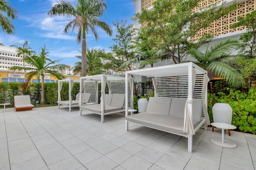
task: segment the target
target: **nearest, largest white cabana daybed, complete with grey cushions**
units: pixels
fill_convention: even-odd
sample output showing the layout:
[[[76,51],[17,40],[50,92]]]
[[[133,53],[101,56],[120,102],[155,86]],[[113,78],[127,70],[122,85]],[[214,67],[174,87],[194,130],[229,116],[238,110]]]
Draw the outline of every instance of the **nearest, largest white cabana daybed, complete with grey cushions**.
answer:
[[[192,136],[202,125],[210,125],[207,71],[191,62],[126,71],[126,89],[130,74],[152,77],[155,97],[149,99],[146,112],[128,116],[126,107],[126,130],[130,121],[180,135],[188,138],[192,152]]]

